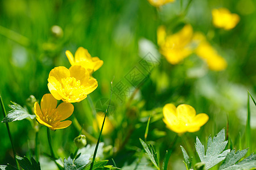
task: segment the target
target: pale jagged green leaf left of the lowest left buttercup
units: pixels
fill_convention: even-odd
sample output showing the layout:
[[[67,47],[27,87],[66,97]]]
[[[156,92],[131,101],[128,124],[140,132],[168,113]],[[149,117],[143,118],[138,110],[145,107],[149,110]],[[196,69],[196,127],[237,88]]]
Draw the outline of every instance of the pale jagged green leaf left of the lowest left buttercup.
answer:
[[[2,123],[19,121],[25,118],[30,118],[31,120],[33,120],[36,117],[35,115],[28,113],[27,108],[23,108],[19,104],[16,104],[15,102],[12,102],[12,101],[11,103],[13,103],[13,105],[9,105],[9,107],[12,110],[3,119]]]

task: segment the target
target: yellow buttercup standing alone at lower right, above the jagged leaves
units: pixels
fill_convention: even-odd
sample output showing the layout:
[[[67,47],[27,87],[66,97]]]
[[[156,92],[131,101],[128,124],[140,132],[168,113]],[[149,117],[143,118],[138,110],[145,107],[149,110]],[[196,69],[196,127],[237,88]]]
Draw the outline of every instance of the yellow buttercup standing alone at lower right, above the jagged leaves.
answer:
[[[163,116],[167,128],[179,134],[198,131],[209,119],[205,113],[196,115],[195,109],[187,104],[178,105],[177,108],[174,104],[166,104]]]

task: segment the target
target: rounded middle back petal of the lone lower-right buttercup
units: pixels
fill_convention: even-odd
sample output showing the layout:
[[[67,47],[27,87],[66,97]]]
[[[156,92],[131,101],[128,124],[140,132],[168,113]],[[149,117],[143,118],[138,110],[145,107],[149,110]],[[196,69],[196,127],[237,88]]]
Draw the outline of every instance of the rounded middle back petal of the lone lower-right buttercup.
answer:
[[[190,118],[196,116],[196,111],[195,109],[188,104],[180,104],[177,107],[177,117],[180,118]]]

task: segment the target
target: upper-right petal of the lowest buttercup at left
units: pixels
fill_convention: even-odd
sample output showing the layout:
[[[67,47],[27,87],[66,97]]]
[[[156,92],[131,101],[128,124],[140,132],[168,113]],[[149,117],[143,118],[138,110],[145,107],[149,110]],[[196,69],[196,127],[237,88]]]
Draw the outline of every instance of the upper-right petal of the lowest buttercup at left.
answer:
[[[71,103],[61,103],[56,108],[56,112],[59,115],[56,121],[63,121],[66,118],[70,117],[74,111],[74,106]]]

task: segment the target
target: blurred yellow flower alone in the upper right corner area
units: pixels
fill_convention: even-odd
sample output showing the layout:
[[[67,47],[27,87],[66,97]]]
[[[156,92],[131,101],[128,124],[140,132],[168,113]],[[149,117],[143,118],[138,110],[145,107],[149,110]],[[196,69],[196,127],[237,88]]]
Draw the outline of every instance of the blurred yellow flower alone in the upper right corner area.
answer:
[[[231,14],[226,8],[218,8],[212,10],[213,24],[217,28],[224,28],[226,30],[236,27],[240,21],[240,16]]]

